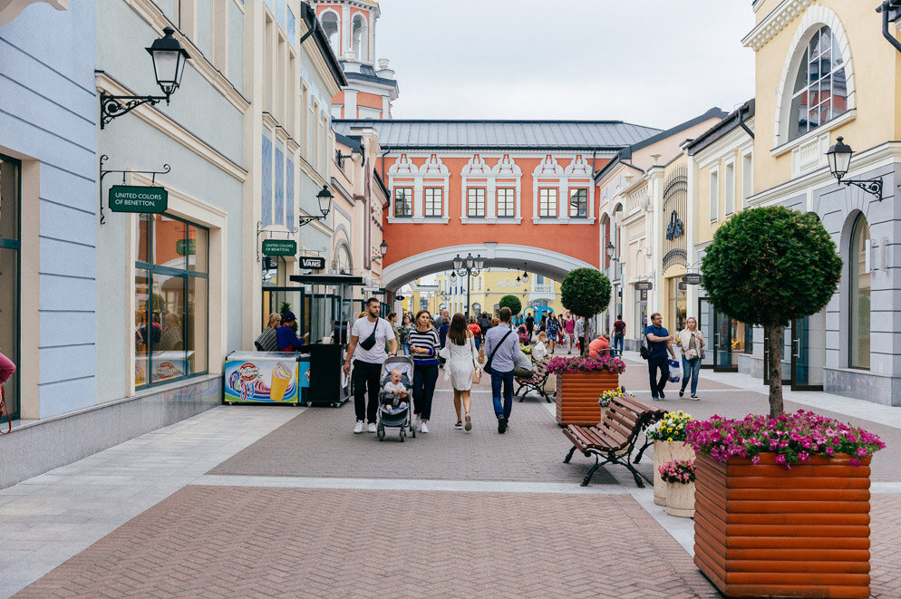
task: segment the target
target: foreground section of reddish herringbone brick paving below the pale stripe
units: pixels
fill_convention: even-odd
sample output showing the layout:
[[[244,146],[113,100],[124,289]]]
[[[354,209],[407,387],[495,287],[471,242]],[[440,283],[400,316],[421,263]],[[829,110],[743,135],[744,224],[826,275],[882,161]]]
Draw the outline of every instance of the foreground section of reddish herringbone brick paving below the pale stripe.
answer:
[[[628,496],[202,486],[150,508],[16,596],[100,592],[719,596]]]

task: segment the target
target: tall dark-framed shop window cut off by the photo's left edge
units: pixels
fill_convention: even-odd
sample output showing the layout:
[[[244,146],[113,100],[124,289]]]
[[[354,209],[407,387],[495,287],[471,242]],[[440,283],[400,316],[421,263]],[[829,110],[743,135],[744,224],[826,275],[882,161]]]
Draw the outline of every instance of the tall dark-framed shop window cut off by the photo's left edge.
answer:
[[[0,154],[0,352],[19,365],[19,181],[21,164]],[[19,376],[4,383],[6,408],[19,414]],[[5,419],[4,419],[5,420]]]

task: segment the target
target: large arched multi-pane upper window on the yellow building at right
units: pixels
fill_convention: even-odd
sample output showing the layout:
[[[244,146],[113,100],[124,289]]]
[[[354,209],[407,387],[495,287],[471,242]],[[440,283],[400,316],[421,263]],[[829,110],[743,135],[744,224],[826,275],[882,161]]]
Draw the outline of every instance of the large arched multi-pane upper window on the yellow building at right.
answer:
[[[791,104],[788,140],[794,140],[848,111],[845,59],[832,30],[814,31],[801,50],[794,78],[790,79]],[[786,91],[788,96],[789,90]]]

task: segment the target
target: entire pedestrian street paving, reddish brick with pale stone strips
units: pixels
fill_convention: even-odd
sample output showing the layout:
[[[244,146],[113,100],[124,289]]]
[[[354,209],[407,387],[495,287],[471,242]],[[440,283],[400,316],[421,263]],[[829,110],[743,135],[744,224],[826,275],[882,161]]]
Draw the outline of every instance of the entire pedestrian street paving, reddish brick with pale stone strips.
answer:
[[[636,358],[630,391],[647,388]],[[590,462],[562,464],[552,406],[517,403],[501,436],[487,389],[471,433],[452,428],[443,380],[431,432],[404,444],[352,434],[351,405],[222,406],[0,490],[0,596],[718,596],[692,564],[692,520],[622,468],[580,487]],[[767,411],[739,374],[702,372],[701,401],[676,391],[660,404],[696,418]],[[889,445],[873,461],[872,588],[897,596],[901,409],[786,400]]]

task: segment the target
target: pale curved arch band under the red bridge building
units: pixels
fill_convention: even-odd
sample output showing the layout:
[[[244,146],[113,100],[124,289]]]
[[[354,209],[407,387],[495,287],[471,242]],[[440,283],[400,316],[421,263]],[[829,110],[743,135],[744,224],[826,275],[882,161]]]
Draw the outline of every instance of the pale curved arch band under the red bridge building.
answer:
[[[576,240],[573,241],[577,245]],[[389,245],[389,254],[390,245]],[[485,258],[485,268],[525,268],[531,274],[544,275],[562,281],[567,273],[576,268],[596,268],[596,264],[575,256],[568,256],[540,246],[525,246],[501,243],[462,244],[458,246],[435,247],[412,256],[405,256],[393,262],[386,262],[382,271],[382,285],[396,292],[402,285],[421,276],[450,270],[454,256],[480,255]]]

